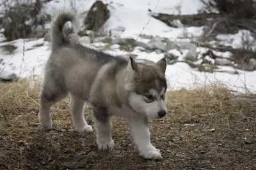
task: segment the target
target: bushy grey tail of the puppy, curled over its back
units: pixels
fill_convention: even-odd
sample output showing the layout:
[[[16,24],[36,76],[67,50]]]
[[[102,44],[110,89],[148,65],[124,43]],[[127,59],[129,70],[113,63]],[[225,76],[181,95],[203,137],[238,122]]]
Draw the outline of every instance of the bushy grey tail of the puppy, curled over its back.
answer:
[[[80,28],[79,18],[72,11],[61,11],[52,21],[51,29],[51,46],[52,52],[60,48],[61,45],[67,45],[70,40],[64,34],[63,28],[66,22],[72,23],[74,33],[77,33]]]

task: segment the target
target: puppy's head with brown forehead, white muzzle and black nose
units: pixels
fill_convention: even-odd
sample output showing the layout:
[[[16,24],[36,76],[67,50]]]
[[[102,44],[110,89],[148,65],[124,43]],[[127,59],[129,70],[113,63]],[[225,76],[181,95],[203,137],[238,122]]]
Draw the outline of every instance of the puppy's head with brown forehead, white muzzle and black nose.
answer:
[[[144,65],[136,63],[130,57],[125,89],[127,104],[133,111],[152,119],[166,115],[165,70],[166,59],[161,59],[153,65]]]

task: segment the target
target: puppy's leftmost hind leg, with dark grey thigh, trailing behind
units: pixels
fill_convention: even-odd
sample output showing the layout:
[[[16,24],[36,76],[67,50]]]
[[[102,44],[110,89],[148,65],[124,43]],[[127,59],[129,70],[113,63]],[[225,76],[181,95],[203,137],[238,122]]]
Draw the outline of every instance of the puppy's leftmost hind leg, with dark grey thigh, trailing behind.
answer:
[[[52,130],[50,110],[51,106],[67,96],[63,90],[44,85],[40,94],[40,110],[38,118],[45,130]]]

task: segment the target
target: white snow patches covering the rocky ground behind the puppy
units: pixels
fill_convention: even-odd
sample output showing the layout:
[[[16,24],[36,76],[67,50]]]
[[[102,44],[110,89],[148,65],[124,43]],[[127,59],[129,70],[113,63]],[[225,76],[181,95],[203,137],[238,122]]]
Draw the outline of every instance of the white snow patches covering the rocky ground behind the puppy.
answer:
[[[94,0],[79,0],[72,6],[70,5],[70,1],[67,0],[51,1],[46,4],[42,13],[48,13],[54,16],[60,10],[75,9],[82,22],[86,15],[86,11],[90,9],[90,6],[92,6],[94,2]],[[188,41],[189,39],[196,39],[203,34],[203,27],[187,27],[186,29],[183,27],[172,28],[151,17],[152,11],[154,11],[155,8],[157,13],[196,14],[198,11],[205,8],[200,0],[112,0],[103,2],[109,3],[111,17],[104,27],[102,27],[102,31],[108,32],[111,30],[113,37],[119,36],[122,38],[136,39],[139,37],[140,33],[142,33],[145,35],[165,37],[170,40],[182,39]],[[193,8],[191,8],[191,6],[193,6]],[[151,12],[148,11],[148,9],[150,9]],[[185,31],[186,38],[184,38]],[[3,32],[3,30],[0,32]],[[241,34],[243,34],[243,31],[240,31],[235,35],[219,35],[218,39],[221,39],[223,44],[232,45],[234,48],[237,48],[242,45]],[[147,41],[147,39],[139,39],[140,41]],[[250,36],[249,39],[253,40]],[[4,36],[3,34],[0,34],[0,42],[3,40]],[[8,53],[3,48],[5,45],[14,45],[17,46],[17,49],[14,50],[14,53]],[[93,46],[93,48],[101,48],[104,46],[104,43],[84,45]],[[49,43],[44,41],[44,39],[17,39],[12,42],[0,43],[0,46],[0,59],[3,59],[0,64],[1,77],[6,78],[12,73],[20,75],[21,77],[28,77],[31,75],[42,76],[45,61],[51,52]],[[25,51],[23,48],[25,48]],[[205,49],[198,48],[197,50],[204,51]],[[121,51],[118,48],[118,45],[111,46],[106,52],[113,55],[127,54],[127,52]],[[138,55],[138,59],[147,59],[154,62],[164,57],[163,53],[141,52],[136,48],[132,53]],[[222,55],[223,57],[229,57],[230,53],[223,53]],[[221,69],[234,71],[234,68],[232,67],[221,67]],[[193,89],[202,87],[207,83],[219,81],[232,90],[237,90],[239,92],[250,90],[250,92],[255,93],[256,71],[236,71],[239,74],[202,73],[191,69],[186,63],[179,62],[167,67],[166,77],[168,78],[171,90],[180,89],[182,87]]]

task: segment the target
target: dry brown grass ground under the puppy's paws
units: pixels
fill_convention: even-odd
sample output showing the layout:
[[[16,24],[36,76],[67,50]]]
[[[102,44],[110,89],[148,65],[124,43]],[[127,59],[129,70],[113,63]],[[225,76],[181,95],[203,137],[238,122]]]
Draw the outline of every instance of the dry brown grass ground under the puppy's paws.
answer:
[[[28,81],[0,84],[0,169],[256,168],[256,104],[230,101],[234,94],[220,85],[169,92],[168,115],[150,122],[162,161],[139,157],[127,125],[115,118],[115,148],[99,152],[95,132],[73,130],[68,99],[51,110],[56,130],[42,131],[38,90]],[[91,113],[86,108],[90,124]]]

